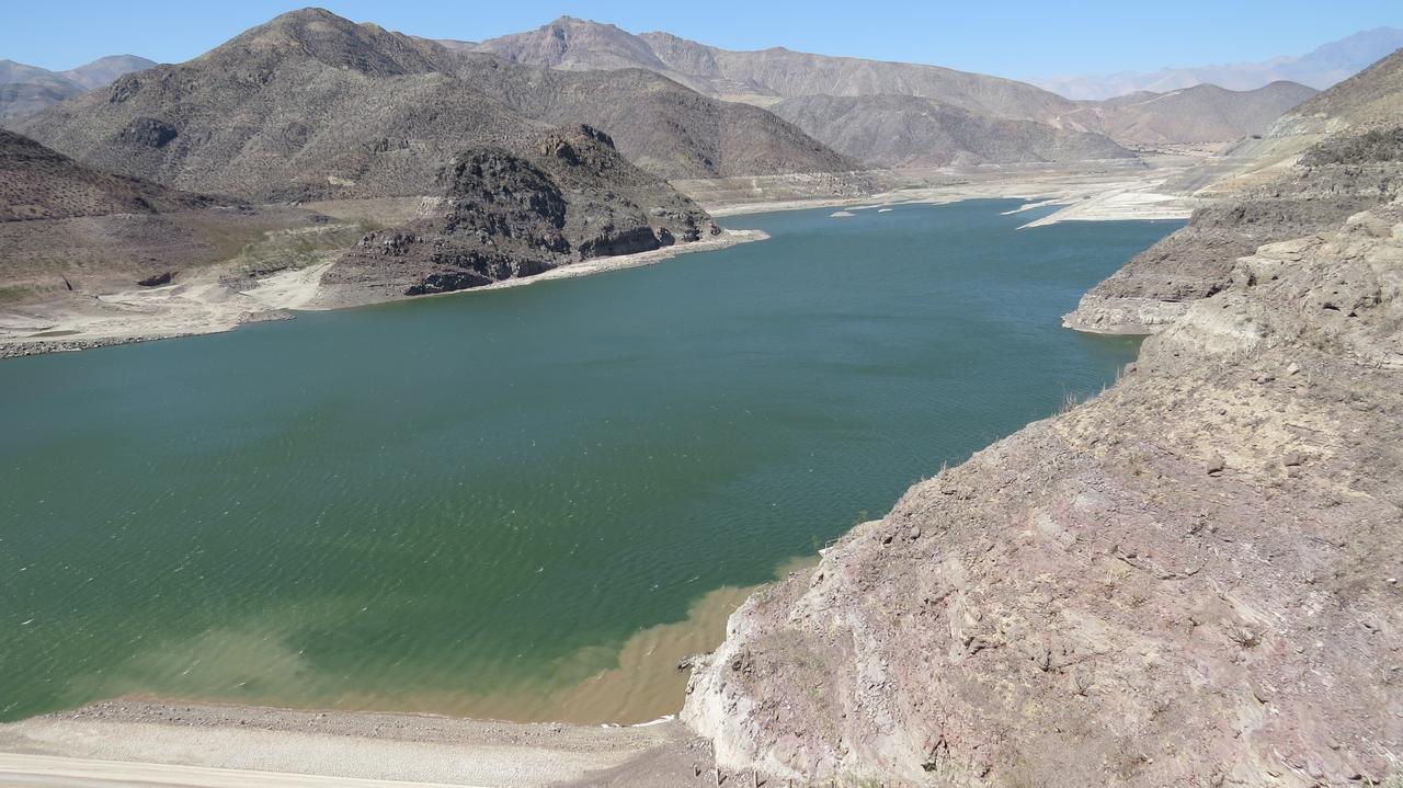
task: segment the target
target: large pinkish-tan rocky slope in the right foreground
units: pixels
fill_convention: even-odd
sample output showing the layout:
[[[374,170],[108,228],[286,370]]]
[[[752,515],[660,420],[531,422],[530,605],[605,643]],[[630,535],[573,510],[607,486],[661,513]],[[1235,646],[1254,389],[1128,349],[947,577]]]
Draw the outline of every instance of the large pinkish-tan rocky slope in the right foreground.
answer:
[[[752,597],[683,718],[885,785],[1403,770],[1403,201],[1271,244],[1093,401]]]

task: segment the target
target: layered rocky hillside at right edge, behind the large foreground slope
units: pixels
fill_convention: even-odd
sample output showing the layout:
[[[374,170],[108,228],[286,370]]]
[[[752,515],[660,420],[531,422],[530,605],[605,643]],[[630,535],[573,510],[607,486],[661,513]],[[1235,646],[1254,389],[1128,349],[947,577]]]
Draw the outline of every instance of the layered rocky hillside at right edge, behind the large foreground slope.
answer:
[[[1258,245],[1319,233],[1390,202],[1403,189],[1400,107],[1403,52],[1306,101],[1278,126],[1309,125],[1317,130],[1308,139],[1322,142],[1306,149],[1287,175],[1197,210],[1187,227],[1093,287],[1065,325],[1108,334],[1159,331],[1194,299],[1221,290],[1233,261]],[[1289,139],[1301,133],[1289,132]]]

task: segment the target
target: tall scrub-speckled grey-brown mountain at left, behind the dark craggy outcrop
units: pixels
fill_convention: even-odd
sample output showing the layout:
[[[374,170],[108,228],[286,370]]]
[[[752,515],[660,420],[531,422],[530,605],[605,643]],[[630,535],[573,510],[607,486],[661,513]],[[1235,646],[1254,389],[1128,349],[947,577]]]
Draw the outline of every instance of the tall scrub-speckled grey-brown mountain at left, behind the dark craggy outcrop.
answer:
[[[529,90],[516,93],[532,87],[519,72],[466,69],[439,43],[313,8],[283,14],[187,63],[122,77],[18,128],[80,161],[192,191],[262,201],[425,195],[464,146],[515,149],[549,128],[511,105],[533,101]],[[515,81],[492,84],[497,77]],[[561,90],[574,93],[575,108],[610,102],[606,132],[630,123],[669,128],[648,137],[657,150],[624,150],[659,167],[675,164],[661,171],[666,177],[714,175],[702,163],[737,157],[738,144],[763,149],[772,171],[852,168],[763,111],[731,118],[720,102],[694,94],[692,105],[669,105],[652,95],[655,87],[633,80],[596,91],[577,80]],[[686,112],[669,114],[679,104]],[[540,115],[561,122],[571,112]],[[728,139],[723,121],[737,121],[748,136]],[[700,150],[678,150],[692,144]]]

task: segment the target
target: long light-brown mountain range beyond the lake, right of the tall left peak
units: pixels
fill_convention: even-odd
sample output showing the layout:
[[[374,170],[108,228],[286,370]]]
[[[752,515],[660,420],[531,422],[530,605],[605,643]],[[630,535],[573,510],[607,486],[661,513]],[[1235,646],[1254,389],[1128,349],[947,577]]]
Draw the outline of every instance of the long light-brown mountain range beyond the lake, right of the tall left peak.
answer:
[[[1030,84],[937,66],[783,48],[730,52],[572,17],[485,41],[477,50],[561,72],[645,69],[713,97],[770,108],[829,147],[880,165],[1129,156],[1106,136],[1121,144],[1229,142],[1260,133],[1310,95],[1282,84],[1075,102]]]

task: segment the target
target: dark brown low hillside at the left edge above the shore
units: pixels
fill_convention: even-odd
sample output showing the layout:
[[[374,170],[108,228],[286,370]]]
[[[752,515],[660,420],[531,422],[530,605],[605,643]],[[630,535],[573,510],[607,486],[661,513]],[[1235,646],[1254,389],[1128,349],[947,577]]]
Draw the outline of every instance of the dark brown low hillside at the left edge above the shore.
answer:
[[[109,175],[0,129],[0,222],[161,213],[216,201]]]

